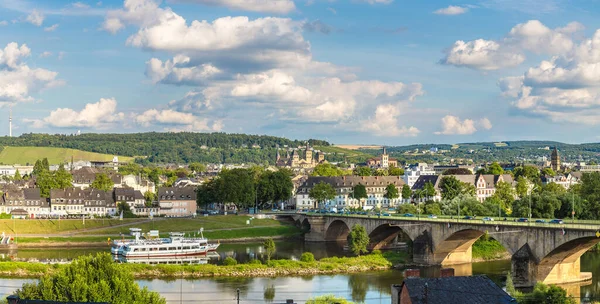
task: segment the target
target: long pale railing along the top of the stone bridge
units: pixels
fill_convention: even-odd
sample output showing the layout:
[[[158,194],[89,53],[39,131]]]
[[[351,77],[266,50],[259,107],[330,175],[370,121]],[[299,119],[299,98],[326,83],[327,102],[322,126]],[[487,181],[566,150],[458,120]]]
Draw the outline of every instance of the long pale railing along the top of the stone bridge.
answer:
[[[410,221],[410,222],[436,222],[436,223],[462,223],[462,224],[477,224],[487,225],[491,227],[495,226],[519,226],[519,227],[539,227],[539,228],[555,228],[555,229],[579,229],[579,230],[593,230],[600,231],[599,224],[584,224],[584,223],[565,223],[565,224],[552,224],[552,223],[536,223],[530,222],[515,222],[515,221],[484,221],[482,219],[463,219],[463,218],[429,218],[427,216],[414,216],[414,217],[400,217],[400,216],[379,216],[374,215],[359,215],[359,214],[331,214],[331,213],[300,213],[313,216],[327,216],[327,217],[340,217],[340,218],[367,218],[367,219],[384,219],[393,221]]]

